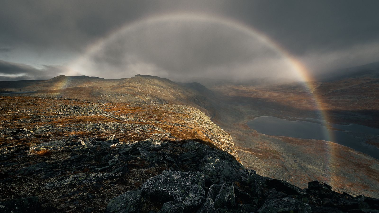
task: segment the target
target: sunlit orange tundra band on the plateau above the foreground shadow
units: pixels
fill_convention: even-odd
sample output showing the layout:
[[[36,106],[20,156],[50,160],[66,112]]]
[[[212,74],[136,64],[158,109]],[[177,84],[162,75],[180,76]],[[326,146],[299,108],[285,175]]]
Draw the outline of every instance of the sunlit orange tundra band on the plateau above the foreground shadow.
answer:
[[[44,143],[60,139],[66,136],[95,137],[104,141],[111,135],[116,135],[119,142],[133,142],[145,140],[155,135],[161,135],[167,140],[195,140],[205,143],[211,147],[221,150],[227,148],[225,145],[214,144],[213,130],[202,126],[202,119],[193,121],[192,113],[199,113],[193,108],[177,105],[147,105],[143,103],[90,103],[72,99],[54,99],[38,97],[2,97],[0,109],[0,121],[5,122],[8,128],[17,128],[23,131],[31,131],[30,138],[17,138],[12,141],[0,138],[0,143],[25,144]],[[72,114],[67,109],[75,108],[76,111],[91,109],[95,112]],[[8,110],[12,111],[8,111]],[[9,113],[12,112],[12,113]],[[15,115],[17,113],[17,120]],[[128,119],[124,119],[127,117]],[[21,120],[23,118],[23,120]],[[130,130],[108,130],[98,129],[96,131],[75,130],[81,124],[136,124],[150,126],[148,131]],[[53,131],[47,126],[60,126],[61,131]],[[67,127],[74,130],[65,131]],[[1,128],[1,127],[0,127]],[[43,134],[36,132],[36,128],[44,128]],[[38,129],[37,129],[38,130]],[[162,132],[163,130],[163,132]],[[163,134],[164,132],[170,134]],[[227,139],[231,141],[231,139]],[[42,153],[39,155],[46,155]],[[236,156],[236,153],[234,153]]]

